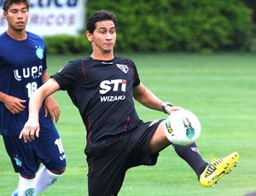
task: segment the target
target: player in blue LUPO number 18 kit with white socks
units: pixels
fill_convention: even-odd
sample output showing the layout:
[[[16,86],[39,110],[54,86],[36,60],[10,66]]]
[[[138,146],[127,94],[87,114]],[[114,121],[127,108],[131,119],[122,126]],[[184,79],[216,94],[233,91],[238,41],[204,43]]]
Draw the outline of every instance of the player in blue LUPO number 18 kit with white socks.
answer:
[[[15,172],[20,174],[13,193],[20,196],[43,192],[66,169],[66,155],[54,124],[60,109],[53,96],[39,110],[40,137],[29,143],[19,139],[28,118],[29,99],[49,79],[44,40],[26,32],[28,10],[27,0],[5,0],[8,29],[0,35],[0,134]],[[41,163],[44,167],[39,170]]]

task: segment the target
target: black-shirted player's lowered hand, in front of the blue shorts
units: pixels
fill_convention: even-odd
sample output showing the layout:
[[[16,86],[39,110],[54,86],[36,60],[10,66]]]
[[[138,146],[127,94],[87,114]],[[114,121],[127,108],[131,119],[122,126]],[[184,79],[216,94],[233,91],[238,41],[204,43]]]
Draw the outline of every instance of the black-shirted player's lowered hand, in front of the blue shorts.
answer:
[[[34,141],[35,137],[39,137],[38,118],[33,118],[33,117],[28,118],[23,129],[20,131],[19,138],[22,139],[22,137],[25,142]]]

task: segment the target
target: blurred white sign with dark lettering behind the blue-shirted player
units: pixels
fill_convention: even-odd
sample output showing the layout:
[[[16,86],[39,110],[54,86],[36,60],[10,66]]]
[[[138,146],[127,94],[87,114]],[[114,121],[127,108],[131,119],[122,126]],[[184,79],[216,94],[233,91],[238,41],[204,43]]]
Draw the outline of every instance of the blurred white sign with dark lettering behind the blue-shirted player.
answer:
[[[40,36],[55,34],[79,35],[84,29],[86,0],[31,0],[26,31]],[[3,8],[3,0],[0,0]],[[7,21],[0,15],[0,34]]]

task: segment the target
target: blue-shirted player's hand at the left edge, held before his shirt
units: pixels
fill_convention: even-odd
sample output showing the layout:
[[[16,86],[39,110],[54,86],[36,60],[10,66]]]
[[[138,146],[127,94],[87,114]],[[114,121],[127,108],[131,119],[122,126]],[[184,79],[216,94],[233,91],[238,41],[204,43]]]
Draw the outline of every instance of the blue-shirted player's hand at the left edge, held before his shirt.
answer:
[[[3,101],[4,106],[13,114],[22,112],[25,109],[25,106],[22,103],[25,102],[26,100],[20,100],[19,98],[10,95],[8,95]]]

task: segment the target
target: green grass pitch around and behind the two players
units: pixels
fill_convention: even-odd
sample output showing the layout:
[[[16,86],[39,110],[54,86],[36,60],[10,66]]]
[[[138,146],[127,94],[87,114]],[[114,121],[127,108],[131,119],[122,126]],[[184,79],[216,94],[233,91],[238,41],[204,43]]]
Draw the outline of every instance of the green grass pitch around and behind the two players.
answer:
[[[160,153],[154,167],[128,170],[119,196],[218,195],[241,196],[256,191],[256,56],[248,54],[152,54],[128,55],[137,64],[140,78],[163,101],[186,108],[200,118],[201,137],[197,146],[210,161],[237,151],[236,169],[218,185],[201,187],[189,165],[177,157],[172,147]],[[49,73],[67,61],[82,57],[49,56]],[[67,154],[67,170],[59,182],[41,195],[88,195],[87,164],[84,156],[85,129],[78,110],[66,92],[57,92],[61,119],[56,124]],[[136,105],[145,121],[166,118],[162,112]],[[0,195],[9,196],[18,176],[0,140]]]

